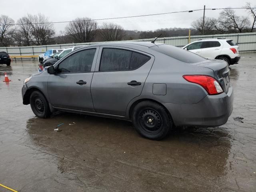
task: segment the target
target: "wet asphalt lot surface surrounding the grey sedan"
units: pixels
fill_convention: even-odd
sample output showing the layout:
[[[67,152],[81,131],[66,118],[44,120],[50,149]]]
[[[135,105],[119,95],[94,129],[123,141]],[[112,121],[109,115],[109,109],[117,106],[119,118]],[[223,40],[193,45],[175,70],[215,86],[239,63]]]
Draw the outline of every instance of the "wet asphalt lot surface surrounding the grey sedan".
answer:
[[[241,56],[230,66],[235,97],[228,122],[177,128],[161,141],[142,138],[121,120],[37,118],[22,104],[21,88],[38,61],[0,65],[0,184],[18,192],[255,192],[256,54]],[[4,72],[12,82],[2,82]]]

